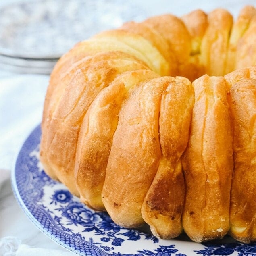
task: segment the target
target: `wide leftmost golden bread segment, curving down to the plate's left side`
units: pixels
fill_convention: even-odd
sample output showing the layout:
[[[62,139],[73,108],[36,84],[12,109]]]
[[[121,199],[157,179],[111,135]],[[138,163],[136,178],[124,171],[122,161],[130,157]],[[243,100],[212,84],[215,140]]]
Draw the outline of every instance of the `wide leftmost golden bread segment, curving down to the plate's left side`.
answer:
[[[46,159],[58,179],[79,195],[74,178],[75,152],[83,117],[98,93],[117,75],[146,68],[136,60],[104,60],[77,69],[67,83],[46,131]]]

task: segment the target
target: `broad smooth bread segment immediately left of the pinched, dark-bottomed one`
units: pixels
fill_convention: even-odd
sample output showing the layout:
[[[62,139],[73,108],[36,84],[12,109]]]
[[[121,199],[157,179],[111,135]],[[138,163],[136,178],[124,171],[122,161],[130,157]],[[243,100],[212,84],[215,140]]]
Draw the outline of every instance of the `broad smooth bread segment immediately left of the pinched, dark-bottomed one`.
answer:
[[[138,84],[119,113],[102,201],[114,222],[124,227],[144,223],[141,207],[160,160],[158,115],[167,85],[165,77]]]

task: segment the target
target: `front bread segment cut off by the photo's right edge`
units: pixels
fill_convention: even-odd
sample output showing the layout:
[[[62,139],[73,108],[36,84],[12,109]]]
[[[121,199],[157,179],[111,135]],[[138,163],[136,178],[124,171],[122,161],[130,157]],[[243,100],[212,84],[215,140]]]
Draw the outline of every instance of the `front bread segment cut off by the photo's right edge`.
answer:
[[[230,235],[241,242],[256,239],[256,74],[234,71],[229,107],[233,124],[234,172],[230,201]],[[230,73],[226,79],[232,77]]]

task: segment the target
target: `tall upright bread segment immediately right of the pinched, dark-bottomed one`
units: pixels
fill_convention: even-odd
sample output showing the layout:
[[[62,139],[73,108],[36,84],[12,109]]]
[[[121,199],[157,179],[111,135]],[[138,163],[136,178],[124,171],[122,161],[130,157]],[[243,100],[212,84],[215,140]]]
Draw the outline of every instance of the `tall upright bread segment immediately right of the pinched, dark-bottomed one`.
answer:
[[[195,104],[189,144],[182,159],[186,198],[183,227],[197,242],[229,230],[232,133],[223,77],[204,75],[193,84]]]

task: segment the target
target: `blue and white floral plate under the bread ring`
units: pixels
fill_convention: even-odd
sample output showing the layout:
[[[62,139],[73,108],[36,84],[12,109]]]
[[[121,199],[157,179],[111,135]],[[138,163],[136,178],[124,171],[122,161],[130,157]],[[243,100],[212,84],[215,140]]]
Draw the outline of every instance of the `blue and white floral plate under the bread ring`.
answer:
[[[148,227],[119,227],[108,214],[87,208],[44,173],[38,159],[40,136],[39,125],[23,144],[12,171],[12,187],[29,219],[68,250],[93,256],[256,255],[256,243],[242,244],[230,237],[197,244],[185,235],[162,240],[151,235]]]

